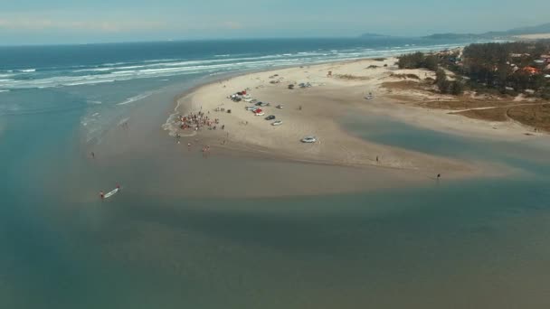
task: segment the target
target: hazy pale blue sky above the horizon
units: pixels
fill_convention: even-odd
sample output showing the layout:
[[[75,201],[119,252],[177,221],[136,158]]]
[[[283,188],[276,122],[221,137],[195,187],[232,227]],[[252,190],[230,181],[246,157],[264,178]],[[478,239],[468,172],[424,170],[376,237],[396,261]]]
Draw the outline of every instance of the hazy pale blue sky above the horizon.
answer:
[[[424,35],[550,22],[547,0],[0,0],[0,44]]]

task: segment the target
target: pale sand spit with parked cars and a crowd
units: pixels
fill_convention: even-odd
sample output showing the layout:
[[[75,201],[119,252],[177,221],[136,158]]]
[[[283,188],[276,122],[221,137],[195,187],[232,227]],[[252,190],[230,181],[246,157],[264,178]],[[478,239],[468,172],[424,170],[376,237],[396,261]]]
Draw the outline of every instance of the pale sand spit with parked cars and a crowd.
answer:
[[[164,128],[172,136],[194,136],[185,138],[185,143],[193,144],[196,138],[200,138],[202,145],[210,146],[209,151],[247,152],[316,164],[374,165],[414,171],[423,176],[442,173],[447,178],[494,175],[496,172],[486,165],[367,142],[346,132],[340,126],[340,120],[350,113],[385,115],[435,130],[459,130],[463,134],[481,136],[509,136],[513,132],[517,133],[517,138],[525,138],[525,127],[514,123],[499,124],[501,128],[496,130],[496,125],[487,121],[396,102],[395,96],[402,93],[395,89],[385,89],[384,82],[400,80],[395,77],[399,74],[433,78],[433,72],[398,70],[395,62],[395,58],[384,61],[345,61],[264,71],[221,80],[194,89],[179,98],[175,114],[168,119]],[[300,83],[310,87],[300,88]],[[289,89],[290,84],[295,85],[294,89]],[[270,103],[270,106],[261,108],[265,115],[255,116],[245,109],[253,104],[233,102],[228,98],[245,89],[251,98]],[[369,93],[372,93],[373,98],[366,99]],[[426,95],[408,90],[403,90],[403,95],[416,96],[419,100],[440,97],[437,94]],[[276,108],[278,105],[283,108]],[[198,131],[180,128],[177,117],[199,112],[212,121],[219,119],[218,124],[213,125],[216,126],[215,130],[213,126],[204,126]],[[264,119],[270,115],[275,119]],[[272,126],[276,120],[282,121],[282,124]],[[316,136],[318,141],[301,143],[304,136]]]

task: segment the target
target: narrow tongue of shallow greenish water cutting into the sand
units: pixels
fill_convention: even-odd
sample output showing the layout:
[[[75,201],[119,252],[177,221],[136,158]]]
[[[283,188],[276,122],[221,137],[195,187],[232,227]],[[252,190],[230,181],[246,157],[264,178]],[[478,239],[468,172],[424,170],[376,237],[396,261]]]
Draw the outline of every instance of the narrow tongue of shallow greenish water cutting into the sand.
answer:
[[[508,164],[539,176],[550,175],[547,137],[520,141],[492,140],[477,136],[453,135],[399,122],[391,117],[348,116],[343,126],[369,141],[431,155],[461,160],[481,160]]]

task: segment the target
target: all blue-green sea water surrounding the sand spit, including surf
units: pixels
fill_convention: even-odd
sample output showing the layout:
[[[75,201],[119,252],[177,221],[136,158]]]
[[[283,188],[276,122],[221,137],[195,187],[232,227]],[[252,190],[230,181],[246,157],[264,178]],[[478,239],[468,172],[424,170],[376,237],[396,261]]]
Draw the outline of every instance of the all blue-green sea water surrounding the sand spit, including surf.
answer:
[[[160,129],[178,94],[223,76],[466,43],[0,47],[0,307],[548,307],[547,139],[496,142],[390,118],[346,119],[352,133],[377,143],[522,173],[259,198],[223,191],[340,172],[258,158],[206,164],[175,153]],[[124,122],[139,134],[124,136]],[[259,164],[266,178],[281,179],[243,172]],[[101,203],[98,192],[115,183],[123,191]]]

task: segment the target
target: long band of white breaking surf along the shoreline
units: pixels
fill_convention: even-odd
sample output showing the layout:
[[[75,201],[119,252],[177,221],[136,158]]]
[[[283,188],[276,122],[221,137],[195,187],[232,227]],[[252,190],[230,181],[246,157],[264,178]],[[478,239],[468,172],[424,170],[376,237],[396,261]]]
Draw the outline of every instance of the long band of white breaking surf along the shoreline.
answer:
[[[37,76],[33,80],[0,80],[0,88],[5,89],[29,89],[29,88],[49,88],[65,87],[79,85],[93,85],[99,83],[114,82],[119,80],[135,80],[147,78],[166,78],[176,75],[186,75],[195,73],[217,74],[231,70],[255,70],[261,68],[270,68],[277,66],[287,66],[296,63],[315,64],[327,61],[355,60],[365,57],[393,56],[406,52],[416,51],[434,51],[458,47],[457,44],[439,44],[431,46],[395,46],[386,49],[374,50],[369,48],[357,47],[354,49],[343,50],[317,50],[311,52],[297,52],[285,54],[270,54],[252,57],[250,54],[227,54],[217,55],[211,59],[184,61],[177,59],[160,59],[152,61],[136,62],[116,62],[104,63],[94,67],[71,67],[80,70],[72,70],[71,75],[60,75],[49,78],[40,78]],[[223,57],[221,57],[223,56]],[[80,75],[82,72],[90,74]],[[101,72],[102,74],[93,74]],[[127,100],[128,101],[128,100]],[[135,101],[125,101],[119,105],[126,105]]]

